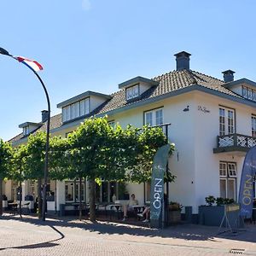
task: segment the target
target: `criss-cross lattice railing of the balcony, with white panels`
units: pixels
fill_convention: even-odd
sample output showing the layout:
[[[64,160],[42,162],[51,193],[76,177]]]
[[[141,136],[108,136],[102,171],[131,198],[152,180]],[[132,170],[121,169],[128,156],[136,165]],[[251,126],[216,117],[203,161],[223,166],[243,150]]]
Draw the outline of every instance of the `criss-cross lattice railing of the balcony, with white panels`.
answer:
[[[232,133],[217,137],[218,148],[239,147],[252,148],[256,146],[256,137]]]

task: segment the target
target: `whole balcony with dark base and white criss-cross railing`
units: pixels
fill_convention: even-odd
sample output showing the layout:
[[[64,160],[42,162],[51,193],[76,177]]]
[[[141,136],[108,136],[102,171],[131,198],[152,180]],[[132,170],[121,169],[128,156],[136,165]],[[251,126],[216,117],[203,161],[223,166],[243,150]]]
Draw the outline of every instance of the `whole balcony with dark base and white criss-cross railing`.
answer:
[[[247,152],[253,146],[256,146],[256,137],[233,133],[218,136],[217,148],[213,148],[213,153]]]

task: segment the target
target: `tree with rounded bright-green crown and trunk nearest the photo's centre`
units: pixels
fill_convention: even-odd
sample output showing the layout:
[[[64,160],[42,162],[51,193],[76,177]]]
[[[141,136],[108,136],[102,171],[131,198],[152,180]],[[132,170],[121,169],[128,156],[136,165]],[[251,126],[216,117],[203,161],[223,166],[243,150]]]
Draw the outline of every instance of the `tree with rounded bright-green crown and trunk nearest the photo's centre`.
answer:
[[[91,221],[96,219],[95,180],[104,177],[105,166],[112,161],[113,133],[107,118],[91,118],[69,136],[69,177],[88,178]]]

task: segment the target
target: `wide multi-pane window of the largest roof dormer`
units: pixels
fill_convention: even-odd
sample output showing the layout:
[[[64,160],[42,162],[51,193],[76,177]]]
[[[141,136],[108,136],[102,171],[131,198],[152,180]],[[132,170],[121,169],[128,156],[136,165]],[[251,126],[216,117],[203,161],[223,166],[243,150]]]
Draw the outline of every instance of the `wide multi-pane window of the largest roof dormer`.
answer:
[[[88,113],[90,113],[89,97],[62,108],[62,121],[67,122],[68,120],[79,118],[79,116],[83,116]]]

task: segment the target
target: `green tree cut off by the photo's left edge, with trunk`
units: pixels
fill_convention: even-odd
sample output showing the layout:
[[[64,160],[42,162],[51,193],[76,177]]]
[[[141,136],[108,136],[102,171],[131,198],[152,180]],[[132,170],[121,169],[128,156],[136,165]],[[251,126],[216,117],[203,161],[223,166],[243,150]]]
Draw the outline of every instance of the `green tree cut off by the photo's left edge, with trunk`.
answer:
[[[3,179],[10,176],[13,150],[9,143],[0,139],[0,215],[3,214]]]

